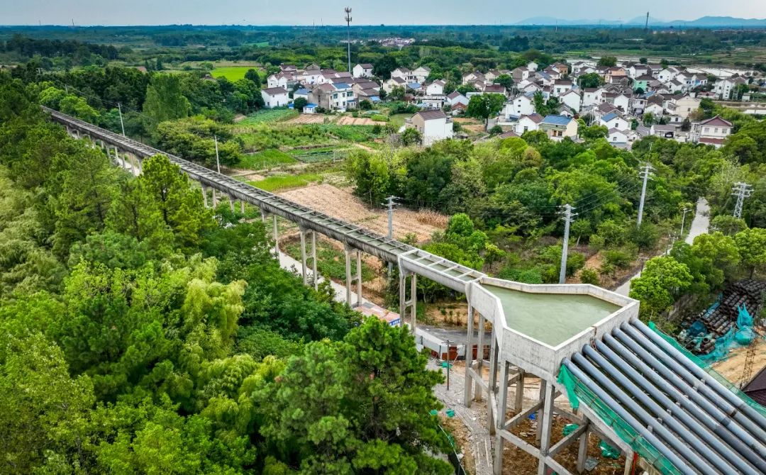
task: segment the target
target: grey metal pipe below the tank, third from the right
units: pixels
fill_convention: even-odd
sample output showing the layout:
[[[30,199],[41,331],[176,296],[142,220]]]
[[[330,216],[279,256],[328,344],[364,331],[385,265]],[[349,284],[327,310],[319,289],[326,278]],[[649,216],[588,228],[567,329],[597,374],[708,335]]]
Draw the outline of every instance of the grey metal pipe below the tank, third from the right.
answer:
[[[604,344],[604,342],[607,344]],[[709,434],[709,432],[704,431],[704,428],[700,427],[700,422],[705,428],[708,428],[709,431],[712,431],[713,434],[720,437],[726,444],[732,447],[734,451],[723,444],[721,444],[722,447],[718,447],[717,444],[719,441],[717,439],[713,439],[711,445],[715,447],[716,450],[719,450],[719,452],[726,457],[726,460],[735,464],[735,466],[744,473],[748,473],[746,467],[750,466],[742,467],[742,457],[735,452],[741,454],[744,450],[750,450],[749,447],[743,444],[737,437],[734,437],[732,433],[726,431],[725,427],[716,421],[710,414],[701,411],[698,406],[692,404],[691,398],[681,394],[681,392],[676,389],[676,386],[671,385],[667,379],[660,378],[656,372],[643,371],[643,367],[646,366],[647,363],[641,362],[636,355],[633,355],[633,353],[625,348],[620,342],[617,342],[614,337],[605,335],[604,342],[596,342],[596,348],[599,352],[607,355],[607,358],[620,367],[623,372],[627,373],[634,382],[637,382],[645,390],[651,391],[654,398],[660,401],[660,403],[662,403],[669,411],[672,411],[673,414],[678,414],[679,419],[700,437],[705,437],[705,434]],[[614,349],[612,349],[613,347]],[[637,369],[642,369],[642,372],[638,372]],[[653,391],[654,388],[650,387],[650,384],[647,381],[653,383],[658,391]],[[679,405],[683,410],[692,414],[696,419],[689,417],[689,414],[686,414],[686,412],[673,411],[673,408],[675,408],[676,405]],[[724,418],[722,414],[719,414],[719,417]],[[755,456],[755,453],[752,451],[751,454]],[[760,457],[755,456],[755,460],[758,460],[759,458]],[[761,467],[761,470],[764,470],[764,468]]]

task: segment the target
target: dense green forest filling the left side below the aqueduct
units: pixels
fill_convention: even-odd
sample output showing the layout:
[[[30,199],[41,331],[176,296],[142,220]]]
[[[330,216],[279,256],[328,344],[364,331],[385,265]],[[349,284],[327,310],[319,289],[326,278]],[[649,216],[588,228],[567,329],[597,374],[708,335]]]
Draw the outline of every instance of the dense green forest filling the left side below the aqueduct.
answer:
[[[165,157],[116,169],[38,93],[0,74],[0,471],[452,473],[406,328],[303,287]]]

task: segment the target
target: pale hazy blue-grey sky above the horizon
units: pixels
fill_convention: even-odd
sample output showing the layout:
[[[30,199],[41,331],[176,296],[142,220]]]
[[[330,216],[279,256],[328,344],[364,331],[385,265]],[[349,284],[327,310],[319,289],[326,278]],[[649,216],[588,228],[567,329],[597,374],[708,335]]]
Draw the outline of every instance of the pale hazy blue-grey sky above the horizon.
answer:
[[[493,25],[534,16],[628,21],[651,11],[661,20],[705,15],[766,18],[766,0],[0,0],[2,25],[339,25],[343,7],[356,25]],[[690,8],[692,7],[693,8]]]

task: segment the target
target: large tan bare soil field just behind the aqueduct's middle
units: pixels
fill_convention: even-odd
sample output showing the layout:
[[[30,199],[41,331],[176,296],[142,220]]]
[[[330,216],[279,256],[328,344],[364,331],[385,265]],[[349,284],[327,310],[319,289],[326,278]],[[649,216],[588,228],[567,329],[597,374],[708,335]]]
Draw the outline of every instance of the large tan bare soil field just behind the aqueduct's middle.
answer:
[[[367,208],[348,189],[322,184],[282,192],[280,195],[333,218],[359,224],[378,234],[388,234],[388,211]],[[437,218],[439,216],[441,218]],[[417,242],[427,241],[434,231],[446,227],[448,219],[447,216],[430,211],[422,213],[400,208],[394,211],[394,238],[402,239],[407,234],[415,234]]]

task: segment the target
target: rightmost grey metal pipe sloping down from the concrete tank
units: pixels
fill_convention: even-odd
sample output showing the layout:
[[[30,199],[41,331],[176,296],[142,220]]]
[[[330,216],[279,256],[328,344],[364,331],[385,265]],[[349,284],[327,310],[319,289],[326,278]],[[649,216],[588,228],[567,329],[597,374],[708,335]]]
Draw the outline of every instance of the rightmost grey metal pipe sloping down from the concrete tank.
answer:
[[[689,383],[689,386],[691,386],[692,388],[696,388],[696,390],[700,394],[708,398],[714,405],[719,406],[722,411],[724,411],[726,414],[729,415],[729,417],[731,417],[734,421],[740,424],[742,428],[744,428],[746,431],[751,432],[756,439],[760,441],[766,441],[766,431],[763,431],[763,429],[761,429],[760,426],[756,424],[752,418],[749,418],[747,414],[744,414],[742,411],[738,411],[738,407],[736,405],[728,404],[728,398],[721,398],[720,393],[714,390],[716,386],[720,386],[719,382],[715,381],[715,379],[710,377],[707,373],[702,372],[702,369],[699,369],[697,365],[694,365],[693,362],[689,361],[689,359],[686,358],[686,356],[684,356],[681,352],[678,352],[676,350],[676,354],[673,354],[673,353],[663,351],[662,349],[660,349],[660,347],[655,346],[653,344],[652,339],[650,339],[650,341],[647,341],[647,338],[644,338],[642,336],[644,334],[640,333],[633,326],[628,325],[627,323],[623,323],[622,327],[625,333],[632,336],[633,339],[635,339],[637,342],[641,342],[641,345],[643,347],[645,347],[647,350],[652,352],[653,355],[655,355],[657,358],[660,359],[660,361],[665,363],[670,369],[673,370],[673,372],[675,372],[681,378],[686,380],[686,382]],[[651,329],[649,330],[651,331]],[[662,342],[664,342],[666,346],[670,346],[670,348],[673,348],[673,346],[671,346],[665,340],[661,339],[659,336],[656,336],[656,337],[662,340]],[[695,375],[693,375],[692,372],[689,372],[689,370],[686,369],[684,365],[682,365],[679,361],[688,362],[689,365],[694,365],[696,369],[699,369],[699,371],[702,372],[702,374],[704,374],[708,378],[696,378]],[[702,379],[702,381],[704,381],[705,384],[703,385],[699,384],[700,379]],[[726,390],[724,389],[724,391]],[[732,395],[732,398],[737,398],[731,392],[729,392],[729,394]],[[744,401],[740,400],[740,402],[742,402],[742,404],[744,405]],[[748,405],[745,405],[745,407],[749,408]],[[757,415],[756,417],[761,418],[760,415]],[[766,458],[766,447],[761,445],[759,449],[756,447],[753,447],[753,449],[759,450],[761,453],[761,456]]]

